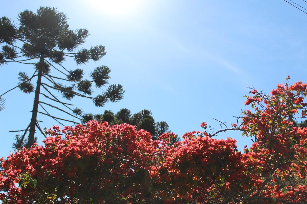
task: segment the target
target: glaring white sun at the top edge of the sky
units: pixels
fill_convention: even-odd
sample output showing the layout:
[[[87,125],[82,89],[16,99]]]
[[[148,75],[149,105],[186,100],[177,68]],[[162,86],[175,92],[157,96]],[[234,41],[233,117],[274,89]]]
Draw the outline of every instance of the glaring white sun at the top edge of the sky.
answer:
[[[104,15],[127,17],[139,11],[141,0],[90,0],[88,6]]]

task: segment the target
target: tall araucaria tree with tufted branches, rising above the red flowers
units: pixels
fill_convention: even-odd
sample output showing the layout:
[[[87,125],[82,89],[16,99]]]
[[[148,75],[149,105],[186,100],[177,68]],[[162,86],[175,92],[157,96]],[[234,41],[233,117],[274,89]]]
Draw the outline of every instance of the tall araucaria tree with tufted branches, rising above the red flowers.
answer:
[[[60,120],[76,123],[74,120],[51,115],[44,106],[55,108],[78,120],[84,119],[80,108],[72,108],[72,104],[60,100],[54,91],[61,93],[67,100],[71,100],[74,96],[91,99],[98,107],[104,106],[109,101],[118,101],[123,97],[124,91],[119,84],[109,85],[102,94],[91,96],[93,93],[92,82],[98,88],[107,84],[111,71],[109,67],[96,67],[90,73],[91,80],[88,80],[83,79],[84,71],[82,69],[68,70],[62,65],[67,57],[72,57],[80,65],[89,62],[89,60],[98,61],[106,55],[105,47],[102,45],[78,50],[78,47],[85,42],[89,35],[88,30],[71,30],[67,19],[64,13],[51,7],[40,7],[37,13],[29,10],[19,13],[18,27],[7,17],[0,19],[0,43],[2,44],[0,65],[17,62],[34,67],[34,72],[30,76],[25,72],[20,72],[18,77],[20,81],[13,88],[19,88],[24,93],[35,92],[30,124],[22,130],[24,132],[21,136],[16,136],[15,147],[23,145],[30,147],[35,142],[36,127],[44,134],[39,126],[38,113],[47,115],[60,124],[62,124]],[[52,74],[53,71],[58,72],[56,76]],[[62,77],[59,77],[58,74],[62,74]],[[34,78],[37,81],[33,84]],[[40,96],[52,103],[63,105],[63,108],[59,108],[58,104],[43,100]],[[29,132],[29,136],[26,141],[27,132]]]

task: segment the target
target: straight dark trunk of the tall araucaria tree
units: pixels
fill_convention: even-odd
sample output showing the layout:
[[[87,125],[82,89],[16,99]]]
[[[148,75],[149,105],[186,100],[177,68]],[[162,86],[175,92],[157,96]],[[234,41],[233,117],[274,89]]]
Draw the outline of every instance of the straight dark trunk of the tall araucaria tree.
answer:
[[[30,130],[29,130],[29,138],[28,143],[26,144],[26,148],[31,147],[34,143],[34,134],[35,134],[35,127],[36,127],[36,117],[37,117],[37,108],[39,102],[39,94],[41,89],[41,76],[44,69],[44,57],[41,55],[39,66],[38,66],[38,74],[37,74],[37,83],[35,89],[35,96],[34,96],[34,103],[33,103],[33,110],[32,110],[32,118],[30,122]]]

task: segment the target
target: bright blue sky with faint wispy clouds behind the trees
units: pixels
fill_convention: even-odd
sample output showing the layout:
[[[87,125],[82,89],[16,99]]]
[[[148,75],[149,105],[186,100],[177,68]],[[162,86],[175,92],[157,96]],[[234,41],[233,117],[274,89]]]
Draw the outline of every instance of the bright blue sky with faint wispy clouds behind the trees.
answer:
[[[302,0],[295,2],[307,7]],[[87,28],[91,35],[84,47],[106,47],[107,55],[97,63],[77,66],[67,60],[64,66],[82,68],[87,74],[96,66],[109,66],[109,82],[125,89],[124,99],[101,108],[75,97],[72,102],[85,112],[149,109],[156,121],[166,121],[179,135],[201,130],[203,121],[219,130],[213,118],[230,125],[236,122],[232,116],[247,108],[246,86],[269,93],[288,74],[292,82],[306,82],[307,14],[282,0],[4,1],[0,16],[17,23],[20,11],[36,12],[39,6],[57,7],[72,29]],[[32,74],[33,68],[16,63],[0,67],[0,93],[17,85],[20,71]],[[8,131],[29,124],[33,96],[17,89],[4,96],[0,157],[14,151],[15,134]],[[42,127],[57,124],[44,116],[38,119],[44,121]],[[43,139],[37,136],[38,141]],[[218,138],[227,137],[235,138],[240,150],[251,144],[241,133],[222,133]]]

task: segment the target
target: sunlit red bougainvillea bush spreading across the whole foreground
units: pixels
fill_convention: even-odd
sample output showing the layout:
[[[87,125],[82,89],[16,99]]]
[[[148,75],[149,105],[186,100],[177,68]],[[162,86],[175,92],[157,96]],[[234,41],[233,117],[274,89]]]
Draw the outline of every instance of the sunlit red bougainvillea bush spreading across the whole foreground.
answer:
[[[135,126],[89,121],[54,126],[45,146],[1,159],[4,203],[307,203],[307,84],[278,84],[269,95],[251,89],[237,123],[212,133],[152,140]],[[242,131],[254,142],[237,150],[219,132]]]

